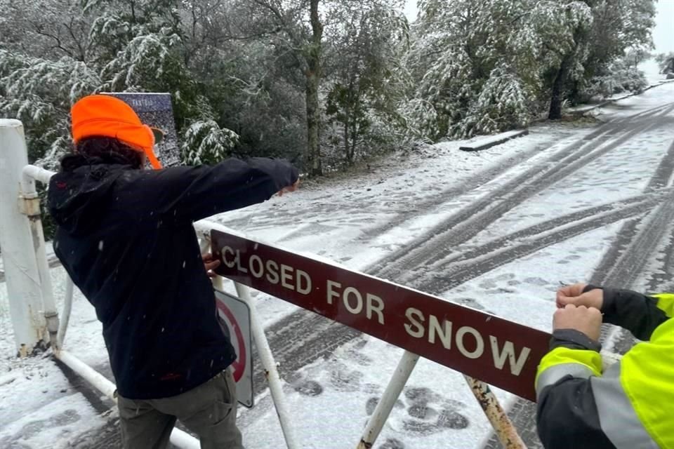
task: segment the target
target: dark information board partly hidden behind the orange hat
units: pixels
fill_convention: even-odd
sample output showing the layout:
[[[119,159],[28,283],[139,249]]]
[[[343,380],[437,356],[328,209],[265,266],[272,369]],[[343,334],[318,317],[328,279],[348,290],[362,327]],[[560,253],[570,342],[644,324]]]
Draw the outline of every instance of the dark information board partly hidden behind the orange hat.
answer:
[[[164,167],[180,165],[180,145],[170,93],[104,92],[103,94],[112,95],[126,102],[136,111],[140,121],[164,131],[164,140],[154,147],[154,153]]]

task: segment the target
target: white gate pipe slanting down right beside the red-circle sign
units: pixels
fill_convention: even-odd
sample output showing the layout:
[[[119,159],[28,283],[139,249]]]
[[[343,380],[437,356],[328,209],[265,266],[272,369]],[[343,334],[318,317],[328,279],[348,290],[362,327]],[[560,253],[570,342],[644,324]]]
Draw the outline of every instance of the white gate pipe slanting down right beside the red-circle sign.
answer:
[[[265,375],[267,377],[267,381],[269,382],[269,389],[272,394],[272,399],[274,400],[276,414],[278,415],[279,422],[281,423],[281,430],[283,431],[283,436],[286,440],[286,446],[288,449],[299,449],[300,446],[297,443],[293,428],[291,426],[293,416],[289,413],[288,407],[286,406],[286,396],[283,392],[281,376],[279,375],[279,370],[277,370],[276,362],[274,361],[274,355],[272,354],[272,349],[269,347],[269,342],[267,342],[265,329],[263,328],[262,323],[260,323],[257,309],[253,303],[253,300],[251,299],[251,289],[238,282],[234,282],[234,286],[237,289],[237,295],[239,295],[239,298],[246,302],[246,304],[248,304],[249,308],[251,309],[251,330],[253,332],[253,339],[255,340],[255,346],[258,349],[260,362],[265,369]]]

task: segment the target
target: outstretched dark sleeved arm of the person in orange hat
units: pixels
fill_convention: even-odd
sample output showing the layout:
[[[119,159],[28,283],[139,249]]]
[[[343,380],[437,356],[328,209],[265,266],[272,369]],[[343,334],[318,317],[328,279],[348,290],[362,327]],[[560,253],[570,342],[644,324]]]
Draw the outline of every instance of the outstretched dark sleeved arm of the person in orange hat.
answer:
[[[216,166],[147,170],[133,188],[158,215],[196,221],[266,201],[297,180],[298,170],[283,159],[227,159]]]

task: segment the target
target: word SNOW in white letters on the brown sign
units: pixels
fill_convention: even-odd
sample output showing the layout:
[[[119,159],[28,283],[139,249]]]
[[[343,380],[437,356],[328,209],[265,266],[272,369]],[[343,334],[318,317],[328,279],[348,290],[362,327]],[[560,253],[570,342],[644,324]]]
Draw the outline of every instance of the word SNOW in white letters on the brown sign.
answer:
[[[464,357],[480,358],[484,355],[484,337],[475,328],[462,326],[456,330],[456,334],[452,335],[453,323],[451,321],[447,319],[441,321],[432,314],[428,316],[427,320],[423,312],[414,307],[409,307],[405,311],[405,318],[407,319],[407,323],[404,323],[405,332],[410,337],[425,338],[430,344],[436,344],[439,340],[442,342],[444,349],[451,349],[451,343],[454,340],[456,350]],[[494,366],[503,370],[507,359],[510,364],[510,373],[516,376],[520,375],[524,363],[531,354],[531,349],[524,347],[520,351],[520,355],[517,356],[513,342],[506,341],[501,344],[494,335],[489,335],[489,342]],[[468,350],[466,346],[468,348],[475,347],[475,349]]]

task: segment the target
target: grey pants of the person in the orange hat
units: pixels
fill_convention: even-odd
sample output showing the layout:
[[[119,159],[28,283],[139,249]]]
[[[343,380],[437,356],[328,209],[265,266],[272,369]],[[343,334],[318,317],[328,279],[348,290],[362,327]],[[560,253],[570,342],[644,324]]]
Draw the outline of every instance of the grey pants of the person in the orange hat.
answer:
[[[236,384],[231,370],[170,398],[136,401],[119,396],[117,406],[125,449],[166,448],[176,419],[199,436],[201,449],[244,448],[236,425]]]

